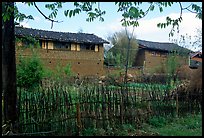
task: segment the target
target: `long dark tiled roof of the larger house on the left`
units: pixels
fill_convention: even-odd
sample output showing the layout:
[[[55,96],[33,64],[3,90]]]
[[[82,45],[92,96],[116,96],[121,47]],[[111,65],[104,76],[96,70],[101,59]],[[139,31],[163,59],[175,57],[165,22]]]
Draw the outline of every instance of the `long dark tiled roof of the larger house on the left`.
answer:
[[[21,37],[32,36],[36,39],[48,39],[61,42],[94,43],[94,44],[109,43],[108,41],[94,34],[54,32],[23,27],[15,27],[15,35]]]

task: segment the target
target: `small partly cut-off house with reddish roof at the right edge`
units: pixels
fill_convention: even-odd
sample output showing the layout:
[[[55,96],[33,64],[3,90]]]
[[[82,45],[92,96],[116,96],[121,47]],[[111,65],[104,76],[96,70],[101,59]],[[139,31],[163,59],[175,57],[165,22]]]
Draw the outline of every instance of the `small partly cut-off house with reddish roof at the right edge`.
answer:
[[[202,52],[193,52],[189,54],[189,67],[192,69],[197,69],[202,66]]]

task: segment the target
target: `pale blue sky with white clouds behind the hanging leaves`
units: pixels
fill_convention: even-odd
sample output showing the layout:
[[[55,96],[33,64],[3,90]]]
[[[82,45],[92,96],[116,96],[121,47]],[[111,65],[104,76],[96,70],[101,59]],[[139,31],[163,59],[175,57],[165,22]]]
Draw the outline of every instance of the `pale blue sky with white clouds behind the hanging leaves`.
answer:
[[[202,2],[194,2],[198,5],[202,5]],[[124,30],[120,20],[122,19],[122,13],[117,12],[117,6],[114,5],[114,2],[100,2],[101,10],[105,10],[106,14],[104,17],[104,22],[96,19],[93,22],[87,22],[86,18],[88,17],[86,13],[80,13],[72,18],[66,17],[64,15],[64,10],[73,8],[73,3],[66,3],[62,9],[58,11],[58,15],[55,20],[63,21],[61,23],[54,23],[53,28],[51,29],[51,22],[46,20],[34,6],[27,6],[22,2],[16,2],[18,10],[26,15],[32,15],[34,20],[25,20],[20,23],[20,25],[33,29],[42,29],[49,31],[58,31],[58,32],[71,32],[77,33],[82,30],[83,33],[95,34],[105,40],[108,36],[114,32]],[[45,14],[49,15],[50,11],[47,10],[44,5],[46,2],[36,2],[40,10]],[[191,2],[182,2],[183,7],[187,7]],[[147,5],[142,5],[142,8],[147,9]],[[139,20],[139,27],[134,29],[134,35],[137,39],[142,39],[146,41],[153,42],[172,42],[169,40],[169,32],[171,27],[165,29],[160,29],[157,27],[157,23],[165,22],[167,16],[176,19],[180,15],[180,9],[178,4],[173,4],[172,7],[165,8],[162,13],[159,12],[158,8],[155,8],[153,12],[148,13],[145,18]],[[202,30],[202,20],[195,18],[195,14],[190,13],[189,11],[183,11],[183,21],[179,27],[179,33],[175,34],[173,39],[179,39],[180,35],[188,34],[192,36],[192,41],[196,35],[196,29]],[[132,32],[132,28],[129,27],[128,30]],[[191,50],[200,50],[193,49]]]

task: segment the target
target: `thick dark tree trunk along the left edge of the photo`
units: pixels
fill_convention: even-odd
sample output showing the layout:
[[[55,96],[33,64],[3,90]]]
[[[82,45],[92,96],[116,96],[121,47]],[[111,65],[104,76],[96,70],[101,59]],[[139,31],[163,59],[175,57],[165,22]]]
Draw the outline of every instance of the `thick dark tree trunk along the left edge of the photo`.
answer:
[[[9,19],[2,20],[2,93],[4,105],[4,123],[12,124],[17,119],[17,87],[16,87],[16,56],[14,35],[14,2],[3,2],[2,13],[7,13]]]

